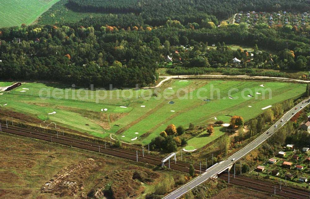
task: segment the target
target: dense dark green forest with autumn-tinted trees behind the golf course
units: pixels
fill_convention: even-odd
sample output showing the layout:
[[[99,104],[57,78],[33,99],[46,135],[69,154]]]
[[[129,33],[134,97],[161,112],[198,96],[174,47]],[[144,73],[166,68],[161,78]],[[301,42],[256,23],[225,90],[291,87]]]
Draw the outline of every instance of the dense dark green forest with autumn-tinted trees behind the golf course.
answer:
[[[308,4],[303,1],[294,2],[294,5],[281,0],[278,4],[261,0],[259,2],[264,4],[251,5],[242,0],[224,4],[203,0],[121,2],[70,0],[69,4],[88,6],[88,9],[105,6],[121,11],[122,6],[137,3],[141,13],[103,14],[77,22],[1,28],[0,78],[144,86],[154,83],[158,76],[156,69],[164,65],[168,55],[174,64],[167,72],[175,75],[221,72],[285,76],[272,71],[262,73],[257,68],[310,69],[309,25],[256,24],[249,27],[243,23],[219,23],[215,16],[208,15],[217,9],[229,15],[238,10],[238,5],[240,9],[253,6],[253,9],[266,10],[271,7],[263,6],[271,4],[277,5],[274,9],[296,9],[304,5],[304,10]],[[241,3],[244,4],[241,6]],[[212,9],[204,13],[211,4]],[[254,51],[232,50],[227,44],[253,46]],[[209,48],[211,45],[216,48]],[[241,61],[237,67],[244,69],[230,68],[236,66],[232,62],[235,57]]]

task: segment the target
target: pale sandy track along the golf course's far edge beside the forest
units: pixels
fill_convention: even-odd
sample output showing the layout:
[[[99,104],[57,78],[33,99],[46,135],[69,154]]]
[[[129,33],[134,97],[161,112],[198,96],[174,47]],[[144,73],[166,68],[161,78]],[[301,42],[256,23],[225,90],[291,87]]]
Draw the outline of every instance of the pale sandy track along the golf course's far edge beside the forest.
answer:
[[[212,79],[246,79],[246,80],[273,80],[273,81],[283,81],[283,82],[300,82],[300,83],[310,83],[308,80],[296,80],[284,77],[266,77],[266,76],[248,76],[248,75],[175,75],[175,76],[159,76],[160,78],[165,78],[160,81],[156,86],[144,87],[143,89],[153,89],[161,86],[165,81],[170,79],[186,79],[186,78],[212,78]]]

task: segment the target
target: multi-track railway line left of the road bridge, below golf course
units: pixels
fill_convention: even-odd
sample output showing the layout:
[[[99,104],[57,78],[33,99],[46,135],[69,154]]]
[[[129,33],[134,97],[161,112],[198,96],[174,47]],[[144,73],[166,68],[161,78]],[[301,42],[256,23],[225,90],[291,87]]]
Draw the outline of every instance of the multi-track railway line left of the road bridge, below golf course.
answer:
[[[136,161],[136,151],[131,151],[127,149],[119,149],[119,148],[113,148],[109,144],[98,144],[90,141],[84,141],[77,138],[62,136],[60,134],[51,134],[51,133],[45,133],[45,132],[38,132],[35,130],[27,129],[27,128],[21,128],[16,127],[12,125],[2,125],[1,127],[2,132],[7,132],[19,136],[25,136],[25,137],[31,137],[38,140],[44,140],[48,142],[55,142],[58,144],[63,145],[69,145],[80,149],[86,149],[91,150],[103,154],[108,154],[120,158],[126,158],[133,161]],[[139,151],[138,152],[138,162],[145,162],[148,164],[153,164],[156,166],[160,166],[162,164],[162,158],[154,155],[149,155],[144,153],[143,154]],[[168,162],[166,162],[166,166],[168,167]],[[175,161],[170,160],[170,169],[176,170],[176,171],[182,171],[182,172],[189,172],[189,163],[182,162],[182,161]],[[193,165],[195,168],[195,173],[200,173],[200,166]],[[205,171],[206,167],[201,167],[201,172]]]

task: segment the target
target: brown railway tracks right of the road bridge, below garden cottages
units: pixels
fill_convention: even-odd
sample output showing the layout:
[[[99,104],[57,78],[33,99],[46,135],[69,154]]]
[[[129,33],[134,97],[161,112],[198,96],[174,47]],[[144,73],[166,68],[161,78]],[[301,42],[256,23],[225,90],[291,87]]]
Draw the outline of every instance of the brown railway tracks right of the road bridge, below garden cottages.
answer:
[[[289,188],[285,186],[277,185],[277,184],[272,184],[272,183],[267,183],[263,182],[260,180],[255,180],[251,178],[247,178],[244,176],[236,176],[235,179],[233,178],[233,175],[229,175],[229,183],[231,184],[236,184],[239,186],[244,186],[248,188],[252,188],[255,190],[263,191],[263,192],[268,192],[268,193],[274,193],[276,190],[276,195],[287,197],[287,198],[296,198],[296,199],[306,199],[310,198],[310,192],[306,191],[301,191],[298,189],[294,188]],[[228,181],[228,174],[221,174],[219,175],[220,179],[223,179],[225,181]]]

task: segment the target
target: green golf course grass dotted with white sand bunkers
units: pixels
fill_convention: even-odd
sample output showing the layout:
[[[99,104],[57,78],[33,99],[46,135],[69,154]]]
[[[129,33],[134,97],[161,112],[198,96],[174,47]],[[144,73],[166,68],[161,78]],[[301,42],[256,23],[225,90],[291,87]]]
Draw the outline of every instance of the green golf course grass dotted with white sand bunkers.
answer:
[[[1,82],[1,85],[8,83]],[[229,93],[232,88],[238,90]],[[169,80],[156,89],[156,97],[152,95],[154,89],[103,92],[72,89],[61,84],[25,83],[0,95],[0,105],[7,103],[1,108],[38,118],[42,126],[55,122],[94,136],[106,137],[113,133],[123,141],[142,144],[149,143],[171,123],[187,128],[189,123],[214,122],[215,117],[229,123],[228,114],[241,115],[249,120],[261,114],[261,108],[300,96],[305,88],[305,84],[279,82]],[[214,99],[210,93],[212,89],[215,90]],[[243,89],[247,90],[243,92]],[[272,98],[263,99],[262,89],[270,89]],[[247,97],[248,94],[254,97]],[[269,97],[269,91],[265,96]],[[210,102],[203,99],[210,99]],[[170,101],[174,103],[168,103]],[[53,112],[56,113],[49,114]],[[221,133],[217,129],[211,136],[199,135],[201,138],[189,140],[188,145],[199,148]]]

